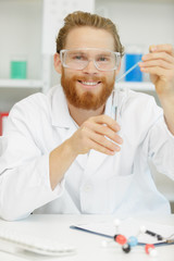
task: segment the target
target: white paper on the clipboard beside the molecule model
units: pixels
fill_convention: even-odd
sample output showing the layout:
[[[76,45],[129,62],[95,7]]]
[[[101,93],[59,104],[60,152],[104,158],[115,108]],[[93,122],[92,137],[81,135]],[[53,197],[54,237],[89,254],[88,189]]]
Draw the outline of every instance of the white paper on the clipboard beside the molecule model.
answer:
[[[164,238],[170,237],[171,235],[173,235],[174,238],[174,226],[161,225],[147,221],[138,221],[135,219],[122,221],[117,229],[115,228],[114,223],[112,222],[76,224],[74,226],[77,228],[86,229],[92,233],[98,233],[111,237],[113,237],[115,234],[122,234],[126,238],[128,238],[129,236],[136,236],[138,238],[138,243],[140,244],[160,244],[165,241],[165,240],[159,241],[157,237],[147,235],[145,233],[140,234],[139,233],[140,226],[145,226],[146,229],[159,234]]]

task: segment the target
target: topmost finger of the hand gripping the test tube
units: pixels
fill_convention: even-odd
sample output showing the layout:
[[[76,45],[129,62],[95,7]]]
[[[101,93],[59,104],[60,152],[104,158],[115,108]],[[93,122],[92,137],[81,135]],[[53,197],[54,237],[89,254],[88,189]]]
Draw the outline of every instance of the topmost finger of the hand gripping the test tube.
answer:
[[[119,132],[121,129],[120,125],[117,124],[116,121],[114,121],[112,117],[108,115],[99,115],[99,116],[94,116],[89,119],[89,122],[95,122],[99,124],[107,124],[111,129],[114,132]]]

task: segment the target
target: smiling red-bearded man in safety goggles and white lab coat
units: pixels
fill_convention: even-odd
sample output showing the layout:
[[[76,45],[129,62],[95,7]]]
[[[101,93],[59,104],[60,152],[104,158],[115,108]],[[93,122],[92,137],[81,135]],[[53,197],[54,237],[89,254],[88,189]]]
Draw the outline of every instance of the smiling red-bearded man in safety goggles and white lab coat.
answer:
[[[170,213],[148,160],[174,178],[174,52],[171,45],[149,50],[139,66],[163,110],[129,91],[119,97],[114,120],[111,92],[123,55],[116,28],[95,14],[66,16],[54,54],[62,87],[15,104],[1,138],[1,217]]]

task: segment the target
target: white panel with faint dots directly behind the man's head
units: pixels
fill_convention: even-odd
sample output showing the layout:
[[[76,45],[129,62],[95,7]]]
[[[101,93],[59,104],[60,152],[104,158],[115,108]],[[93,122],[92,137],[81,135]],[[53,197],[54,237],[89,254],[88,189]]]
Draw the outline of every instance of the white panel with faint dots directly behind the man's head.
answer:
[[[92,13],[95,0],[44,0],[42,53],[55,53],[55,38],[64,17],[74,11]]]

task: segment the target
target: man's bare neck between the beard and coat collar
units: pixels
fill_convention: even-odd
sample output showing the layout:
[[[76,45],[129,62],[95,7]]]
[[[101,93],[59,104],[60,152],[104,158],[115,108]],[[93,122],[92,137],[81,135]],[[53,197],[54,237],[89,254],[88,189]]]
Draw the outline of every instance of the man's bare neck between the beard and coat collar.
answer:
[[[85,121],[87,121],[91,116],[98,116],[103,114],[104,107],[105,107],[105,104],[103,104],[102,107],[94,111],[94,110],[79,109],[70,103],[67,104],[69,104],[70,114],[73,117],[73,120],[78,124],[78,126],[80,126]]]

